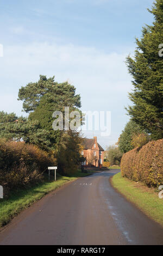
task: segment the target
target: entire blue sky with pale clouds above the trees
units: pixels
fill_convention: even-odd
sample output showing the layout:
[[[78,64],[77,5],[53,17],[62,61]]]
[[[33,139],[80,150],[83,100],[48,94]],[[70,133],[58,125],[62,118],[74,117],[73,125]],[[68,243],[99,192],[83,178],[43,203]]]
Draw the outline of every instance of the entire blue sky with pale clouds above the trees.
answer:
[[[124,63],[135,50],[135,36],[145,24],[153,0],[15,0],[0,1],[0,110],[21,112],[18,89],[39,75],[68,80],[82,97],[83,111],[111,111],[111,135],[101,137],[105,148],[114,144],[129,120],[131,77]]]

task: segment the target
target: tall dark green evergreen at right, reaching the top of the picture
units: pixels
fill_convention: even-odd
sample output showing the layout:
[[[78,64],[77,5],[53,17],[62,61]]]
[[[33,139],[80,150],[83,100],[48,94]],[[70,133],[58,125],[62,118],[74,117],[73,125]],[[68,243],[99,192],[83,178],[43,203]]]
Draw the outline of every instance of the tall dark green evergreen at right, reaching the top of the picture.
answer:
[[[141,39],[136,38],[135,57],[127,58],[134,78],[134,89],[129,93],[133,105],[127,110],[153,139],[159,139],[163,137],[163,57],[159,54],[163,44],[163,1],[156,0],[149,12],[154,15],[153,25],[142,28]]]

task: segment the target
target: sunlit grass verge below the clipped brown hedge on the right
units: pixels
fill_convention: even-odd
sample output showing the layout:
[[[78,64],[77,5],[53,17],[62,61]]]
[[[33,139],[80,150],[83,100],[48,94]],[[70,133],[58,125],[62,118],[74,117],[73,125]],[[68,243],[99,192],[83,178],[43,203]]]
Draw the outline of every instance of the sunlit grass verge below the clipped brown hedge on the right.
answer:
[[[140,182],[123,178],[121,173],[114,175],[111,183],[149,218],[163,226],[163,200],[159,199],[156,188],[148,188]]]

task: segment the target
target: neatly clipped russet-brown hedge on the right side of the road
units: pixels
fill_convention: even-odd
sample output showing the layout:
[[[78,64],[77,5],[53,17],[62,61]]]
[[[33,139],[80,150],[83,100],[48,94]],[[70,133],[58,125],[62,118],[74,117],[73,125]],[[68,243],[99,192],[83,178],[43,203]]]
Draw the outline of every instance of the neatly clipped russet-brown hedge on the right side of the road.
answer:
[[[148,186],[163,185],[163,139],[135,148],[122,156],[122,176]]]

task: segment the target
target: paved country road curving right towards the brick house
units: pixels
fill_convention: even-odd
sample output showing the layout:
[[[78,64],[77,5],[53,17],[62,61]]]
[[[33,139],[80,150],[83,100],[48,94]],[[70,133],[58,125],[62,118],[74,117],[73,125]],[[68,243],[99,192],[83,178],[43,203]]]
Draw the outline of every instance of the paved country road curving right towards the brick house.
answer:
[[[0,245],[163,245],[163,229],[96,173],[66,184],[16,217]]]

